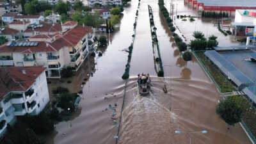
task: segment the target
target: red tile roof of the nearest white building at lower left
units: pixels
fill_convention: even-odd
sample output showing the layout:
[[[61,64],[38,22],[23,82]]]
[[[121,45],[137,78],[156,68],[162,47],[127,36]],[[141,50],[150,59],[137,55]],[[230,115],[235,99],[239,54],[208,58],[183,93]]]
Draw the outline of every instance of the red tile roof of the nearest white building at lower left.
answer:
[[[45,69],[44,67],[1,67],[0,99],[9,92],[28,90]],[[22,70],[25,70],[26,74]]]

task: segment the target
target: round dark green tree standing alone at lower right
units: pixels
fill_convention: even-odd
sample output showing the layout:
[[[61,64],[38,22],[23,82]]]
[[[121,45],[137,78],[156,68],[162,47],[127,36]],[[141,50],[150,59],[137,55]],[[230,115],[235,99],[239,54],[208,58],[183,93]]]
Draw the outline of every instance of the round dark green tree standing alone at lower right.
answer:
[[[239,107],[232,97],[227,97],[227,99],[221,100],[218,104],[216,113],[218,113],[228,125],[235,125],[237,122],[241,122],[243,109]]]

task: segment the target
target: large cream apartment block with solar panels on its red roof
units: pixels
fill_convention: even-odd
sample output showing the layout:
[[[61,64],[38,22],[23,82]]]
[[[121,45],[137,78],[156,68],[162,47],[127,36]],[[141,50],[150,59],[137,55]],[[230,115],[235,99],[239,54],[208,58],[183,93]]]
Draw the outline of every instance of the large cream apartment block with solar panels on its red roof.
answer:
[[[76,26],[58,35],[34,35],[26,42],[7,42],[0,46],[0,66],[47,68],[46,76],[60,78],[61,69],[78,70],[90,52],[94,52],[93,29]]]

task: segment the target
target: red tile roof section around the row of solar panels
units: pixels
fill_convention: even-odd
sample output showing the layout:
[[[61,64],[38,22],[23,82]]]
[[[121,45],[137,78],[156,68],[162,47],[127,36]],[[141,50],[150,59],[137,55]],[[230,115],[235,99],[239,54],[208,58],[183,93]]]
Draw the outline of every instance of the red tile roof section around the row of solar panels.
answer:
[[[5,44],[1,45],[0,52],[33,53],[33,52],[56,52],[57,51],[54,47],[52,47],[51,44],[47,46],[47,42],[38,42],[38,45],[36,46],[8,46],[10,42],[6,42]]]

